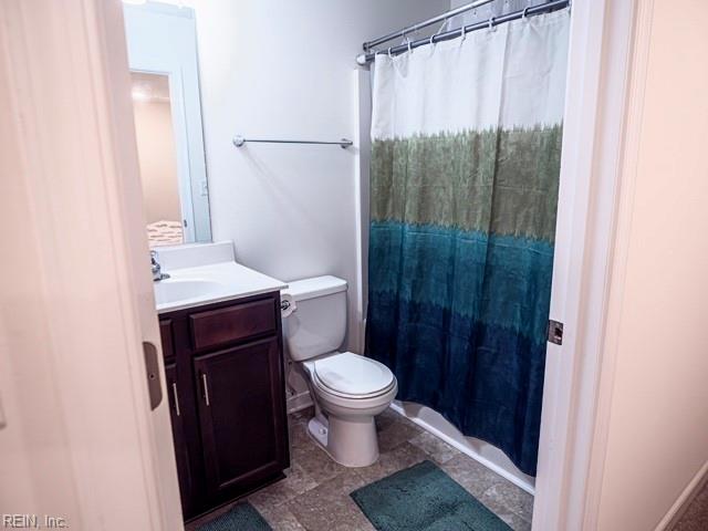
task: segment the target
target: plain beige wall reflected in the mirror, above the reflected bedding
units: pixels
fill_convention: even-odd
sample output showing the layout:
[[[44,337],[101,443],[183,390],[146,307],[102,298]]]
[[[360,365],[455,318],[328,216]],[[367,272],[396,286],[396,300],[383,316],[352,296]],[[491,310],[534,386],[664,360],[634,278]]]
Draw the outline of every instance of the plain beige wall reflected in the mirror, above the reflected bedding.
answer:
[[[169,102],[134,102],[140,179],[148,223],[180,221],[177,155]]]

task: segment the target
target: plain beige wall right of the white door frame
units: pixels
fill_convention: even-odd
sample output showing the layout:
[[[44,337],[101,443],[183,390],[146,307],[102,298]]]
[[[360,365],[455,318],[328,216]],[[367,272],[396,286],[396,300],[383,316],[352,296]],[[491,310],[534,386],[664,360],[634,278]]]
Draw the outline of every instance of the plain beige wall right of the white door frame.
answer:
[[[655,529],[708,461],[708,3],[637,3],[644,103],[613,268],[602,531]]]

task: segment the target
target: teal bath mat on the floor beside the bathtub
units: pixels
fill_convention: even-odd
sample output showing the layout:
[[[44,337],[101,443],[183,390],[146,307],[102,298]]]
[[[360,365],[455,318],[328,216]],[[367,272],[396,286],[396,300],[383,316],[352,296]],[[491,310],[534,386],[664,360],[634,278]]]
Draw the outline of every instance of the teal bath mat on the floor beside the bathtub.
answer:
[[[430,461],[352,492],[378,531],[510,531],[499,517]]]

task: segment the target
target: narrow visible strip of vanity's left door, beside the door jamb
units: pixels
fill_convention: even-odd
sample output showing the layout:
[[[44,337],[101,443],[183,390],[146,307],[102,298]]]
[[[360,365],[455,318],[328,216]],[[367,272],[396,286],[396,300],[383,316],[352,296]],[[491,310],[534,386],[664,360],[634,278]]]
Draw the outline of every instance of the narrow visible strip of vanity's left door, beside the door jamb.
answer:
[[[177,366],[173,363],[165,365],[165,379],[169,399],[169,416],[173,423],[173,441],[175,442],[175,459],[177,460],[177,477],[179,479],[179,494],[185,517],[191,514],[192,478],[189,468],[187,441],[185,437],[184,406],[189,399],[188,393],[183,393],[177,384]]]

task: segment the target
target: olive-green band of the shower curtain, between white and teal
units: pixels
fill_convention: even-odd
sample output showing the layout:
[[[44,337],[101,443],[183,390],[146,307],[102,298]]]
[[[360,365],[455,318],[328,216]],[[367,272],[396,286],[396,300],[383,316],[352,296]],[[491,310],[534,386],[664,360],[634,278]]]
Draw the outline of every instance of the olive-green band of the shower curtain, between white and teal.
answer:
[[[553,241],[562,126],[375,140],[373,221]]]

